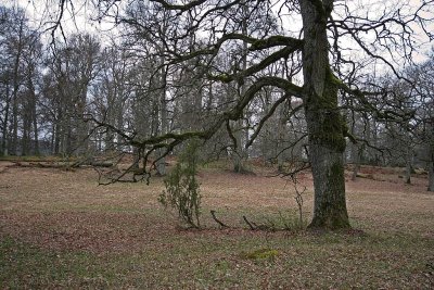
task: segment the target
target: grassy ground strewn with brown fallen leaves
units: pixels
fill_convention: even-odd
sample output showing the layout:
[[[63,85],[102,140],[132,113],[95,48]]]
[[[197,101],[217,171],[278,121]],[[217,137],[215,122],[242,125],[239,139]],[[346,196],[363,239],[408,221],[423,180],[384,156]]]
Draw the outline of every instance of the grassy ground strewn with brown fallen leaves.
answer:
[[[353,230],[297,229],[293,185],[272,168],[200,171],[203,229],[157,202],[163,179],[98,186],[91,168],[0,162],[0,288],[433,289],[434,194],[426,176],[362,168],[347,180]],[[348,172],[348,177],[350,173]],[[311,177],[298,178],[304,218]],[[230,228],[219,228],[209,211]],[[250,230],[258,225],[289,230]]]

